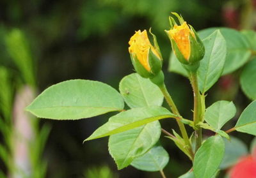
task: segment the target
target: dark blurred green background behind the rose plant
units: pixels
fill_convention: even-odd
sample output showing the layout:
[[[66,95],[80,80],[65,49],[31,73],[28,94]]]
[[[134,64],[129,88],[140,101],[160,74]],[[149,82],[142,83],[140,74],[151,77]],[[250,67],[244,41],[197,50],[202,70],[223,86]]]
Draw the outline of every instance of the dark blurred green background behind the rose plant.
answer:
[[[164,71],[167,73],[171,46],[164,29],[169,29],[168,16],[171,11],[181,13],[197,31],[219,26],[253,29],[254,24],[248,19],[255,14],[254,4],[255,1],[249,0],[1,0],[0,66],[10,71],[12,95],[20,84],[36,86],[37,93],[40,93],[52,84],[74,78],[99,80],[118,89],[118,82],[134,72],[127,49],[134,31],[152,27],[163,53]],[[19,59],[19,52],[17,59],[10,55],[6,36],[13,29],[22,31],[26,38],[31,56],[29,60],[33,63],[30,67],[26,61]],[[18,42],[13,41],[12,44],[19,48]],[[19,62],[21,67],[17,65]],[[23,71],[20,70],[25,63]],[[33,75],[32,79],[26,80],[29,77],[24,71],[30,71],[28,75]],[[166,82],[180,111],[185,117],[191,114],[193,98],[188,80],[168,73]],[[226,87],[226,83],[219,82],[209,91],[207,105],[221,99],[218,92]],[[233,99],[241,108],[250,102],[240,91]],[[103,177],[100,172],[120,178],[160,177],[159,172],[141,172],[132,167],[117,171],[108,153],[108,138],[83,144],[84,138],[106,122],[109,115],[80,121],[41,119],[38,130],[45,124],[51,126],[42,156],[47,161],[45,177]],[[163,128],[176,127],[172,121],[161,124]],[[252,139],[249,135],[242,138],[246,143]],[[186,172],[191,167],[189,159],[169,140],[161,138],[161,142],[170,154],[170,163],[164,170],[166,175],[177,177]],[[0,161],[0,168],[8,172],[3,161]]]

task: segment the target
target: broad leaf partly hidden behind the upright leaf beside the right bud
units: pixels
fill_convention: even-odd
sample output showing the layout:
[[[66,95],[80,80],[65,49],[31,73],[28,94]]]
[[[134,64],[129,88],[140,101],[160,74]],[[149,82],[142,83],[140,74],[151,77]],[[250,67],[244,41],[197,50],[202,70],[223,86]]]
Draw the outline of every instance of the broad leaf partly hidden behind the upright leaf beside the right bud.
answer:
[[[199,31],[199,36],[204,39],[216,29],[220,29],[220,33],[227,42],[227,57],[222,73],[222,75],[226,75],[237,70],[248,61],[251,56],[250,43],[239,31],[225,27],[204,29]]]

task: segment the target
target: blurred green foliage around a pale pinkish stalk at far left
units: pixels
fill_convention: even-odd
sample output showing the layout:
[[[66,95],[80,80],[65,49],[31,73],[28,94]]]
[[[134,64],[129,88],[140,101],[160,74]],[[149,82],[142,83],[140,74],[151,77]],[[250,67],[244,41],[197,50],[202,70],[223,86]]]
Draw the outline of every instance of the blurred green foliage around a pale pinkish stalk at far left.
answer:
[[[20,29],[13,29],[3,36],[4,47],[20,73],[0,66],[0,115],[3,116],[0,117],[0,133],[4,138],[3,143],[0,144],[0,158],[6,168],[6,172],[1,172],[0,177],[8,175],[8,177],[43,178],[46,175],[47,164],[42,160],[42,154],[50,128],[44,125],[40,130],[38,120],[24,114],[24,105],[28,105],[35,89],[35,66],[29,43]],[[24,126],[28,132],[31,131],[31,135],[27,133],[29,138],[24,136],[24,132],[20,132],[20,128]],[[21,154],[24,152],[28,154],[20,158],[20,152],[17,152],[20,150]],[[19,163],[17,163],[18,159]],[[24,161],[26,165],[20,165],[20,162],[24,163]],[[29,171],[24,170],[25,168]]]

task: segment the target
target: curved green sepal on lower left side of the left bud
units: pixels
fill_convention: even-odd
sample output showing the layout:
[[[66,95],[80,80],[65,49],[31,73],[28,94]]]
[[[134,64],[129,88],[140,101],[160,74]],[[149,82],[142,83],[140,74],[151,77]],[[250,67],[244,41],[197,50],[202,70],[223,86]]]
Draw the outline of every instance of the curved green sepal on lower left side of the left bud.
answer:
[[[137,59],[136,55],[130,55],[132,65],[134,66],[134,70],[143,78],[152,78],[154,77],[154,74],[147,71],[144,66],[140,63],[140,61]]]

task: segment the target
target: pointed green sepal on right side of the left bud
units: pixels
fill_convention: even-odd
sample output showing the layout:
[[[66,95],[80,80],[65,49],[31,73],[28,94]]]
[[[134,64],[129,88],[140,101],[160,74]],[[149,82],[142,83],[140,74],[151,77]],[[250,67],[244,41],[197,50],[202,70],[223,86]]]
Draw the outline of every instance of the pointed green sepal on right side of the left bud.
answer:
[[[152,52],[151,48],[148,52],[148,63],[153,77],[162,70],[163,61],[161,61],[161,59]]]

